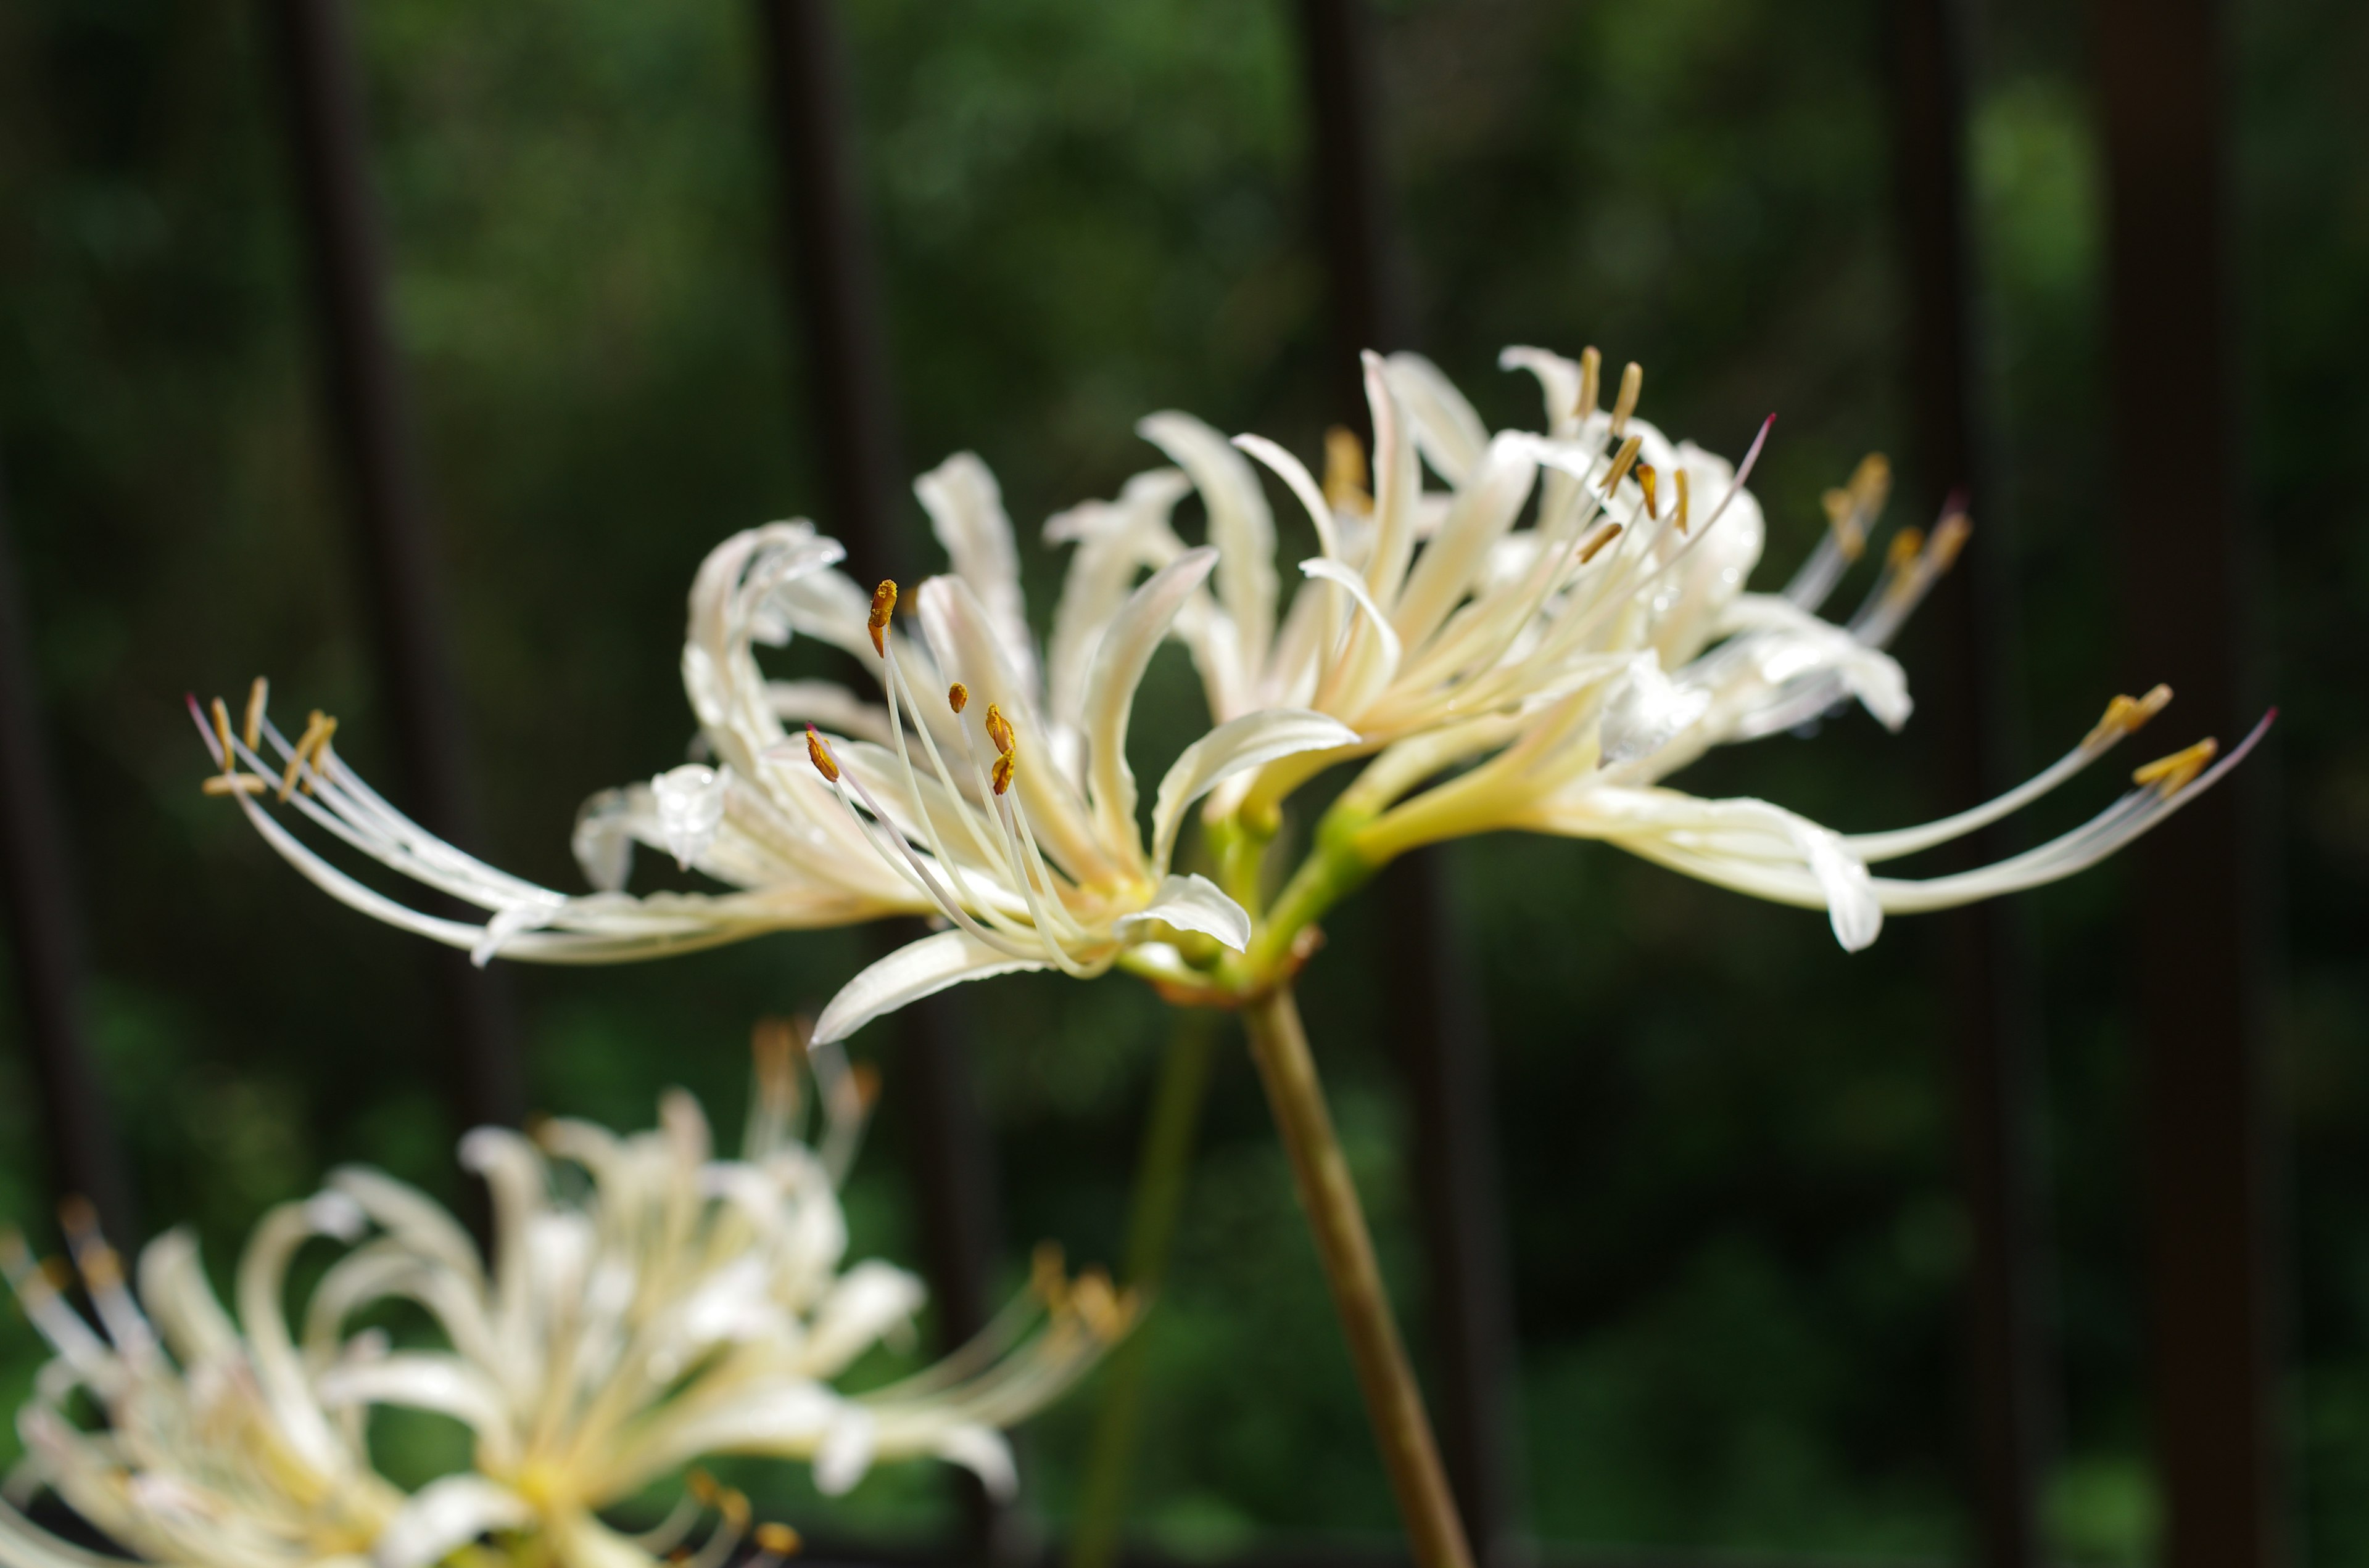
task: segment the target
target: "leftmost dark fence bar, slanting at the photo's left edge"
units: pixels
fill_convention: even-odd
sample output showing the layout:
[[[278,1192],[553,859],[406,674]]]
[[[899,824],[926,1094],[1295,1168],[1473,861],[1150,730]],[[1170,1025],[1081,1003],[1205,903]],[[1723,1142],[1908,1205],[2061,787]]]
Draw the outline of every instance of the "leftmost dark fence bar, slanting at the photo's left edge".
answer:
[[[5,476],[0,476],[5,478]],[[57,803],[57,775],[40,722],[33,635],[17,580],[7,490],[0,483],[0,898],[24,1007],[40,1135],[57,1199],[99,1210],[116,1246],[140,1239],[133,1184],[114,1116],[90,1059],[83,1011],[83,900]]]

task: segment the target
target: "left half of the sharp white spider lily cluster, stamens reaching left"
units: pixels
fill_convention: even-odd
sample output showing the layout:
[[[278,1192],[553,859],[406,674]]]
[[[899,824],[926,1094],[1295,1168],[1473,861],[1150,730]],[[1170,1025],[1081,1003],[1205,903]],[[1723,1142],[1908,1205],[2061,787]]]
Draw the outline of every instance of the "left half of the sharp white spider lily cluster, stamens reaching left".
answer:
[[[713,765],[689,763],[585,805],[576,855],[599,888],[592,895],[521,881],[441,843],[355,777],[329,744],[329,720],[282,734],[263,682],[237,730],[220,701],[211,722],[192,703],[223,767],[206,789],[232,796],[280,855],[339,900],[481,964],[497,955],[625,962],[879,914],[936,914],[952,926],[860,973],[824,1009],[822,1040],[990,973],[1094,976],[1128,962],[1161,976],[1182,969],[1177,943],[1239,952],[1251,917],[1208,879],[1175,872],[1184,812],[1230,777],[1357,734],[1305,708],[1227,715],[1158,782],[1147,838],[1125,753],[1135,692],[1203,580],[1222,573],[1220,552],[1180,547],[1139,585],[1132,559],[1092,583],[1073,573],[1078,587],[1064,595],[1040,661],[986,464],[957,455],[914,490],[955,564],[914,595],[919,637],[891,625],[895,585],[884,583],[867,609],[867,595],[836,571],[841,547],[808,523],[739,533],[706,559],[682,680]],[[1121,507],[1173,505],[1180,493],[1182,481],[1166,476],[1132,486]],[[832,682],[768,680],[756,647],[801,632],[869,666],[881,701]],[[805,722],[810,739],[791,741],[787,720]],[[289,831],[272,803],[486,919],[412,910],[355,881]],[[628,898],[635,843],[739,891]]]

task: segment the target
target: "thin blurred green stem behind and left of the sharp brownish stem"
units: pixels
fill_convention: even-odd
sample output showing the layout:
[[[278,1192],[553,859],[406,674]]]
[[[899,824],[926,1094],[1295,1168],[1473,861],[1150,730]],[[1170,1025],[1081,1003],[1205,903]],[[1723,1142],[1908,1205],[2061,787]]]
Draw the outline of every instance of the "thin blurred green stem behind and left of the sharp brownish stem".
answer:
[[[1135,1168],[1135,1201],[1128,1213],[1128,1286],[1147,1298],[1168,1274],[1177,1210],[1192,1170],[1194,1132],[1208,1099],[1208,1068],[1218,1047],[1220,1016],[1177,1009],[1175,1035],[1151,1097],[1151,1123]],[[1111,1568],[1128,1516],[1128,1483],[1135,1478],[1135,1442],[1144,1409],[1144,1345],[1158,1317],[1147,1317],[1102,1374],[1102,1407],[1094,1412],[1094,1447],[1085,1461],[1078,1518],[1068,1537],[1068,1568]]]

